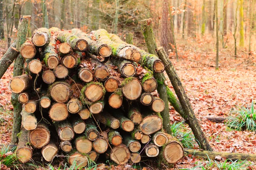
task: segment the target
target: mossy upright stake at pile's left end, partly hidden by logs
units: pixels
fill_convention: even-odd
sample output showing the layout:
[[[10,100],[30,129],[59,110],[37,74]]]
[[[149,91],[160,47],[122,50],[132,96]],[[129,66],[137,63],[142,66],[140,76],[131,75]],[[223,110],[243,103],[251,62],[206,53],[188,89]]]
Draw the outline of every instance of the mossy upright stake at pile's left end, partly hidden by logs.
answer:
[[[21,45],[26,41],[26,34],[29,26],[29,19],[20,18],[18,31],[17,31],[17,51],[20,51]],[[20,76],[23,72],[23,57],[19,55],[15,59],[15,65],[13,69],[13,77]],[[13,127],[12,127],[12,144],[18,142],[17,134],[20,132],[21,126],[21,115],[22,110],[21,104],[18,101],[19,94],[12,93],[12,105],[14,108],[13,113]]]

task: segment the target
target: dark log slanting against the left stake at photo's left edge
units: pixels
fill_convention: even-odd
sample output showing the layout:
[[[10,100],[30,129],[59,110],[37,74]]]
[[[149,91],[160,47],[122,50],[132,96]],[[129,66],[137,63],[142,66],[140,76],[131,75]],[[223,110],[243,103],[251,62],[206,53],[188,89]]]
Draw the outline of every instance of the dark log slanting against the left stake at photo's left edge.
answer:
[[[0,79],[3,77],[3,74],[6,72],[8,67],[12,64],[14,59],[18,56],[19,51],[16,49],[17,40],[15,40],[12,45],[8,48],[6,53],[3,55],[0,60]]]

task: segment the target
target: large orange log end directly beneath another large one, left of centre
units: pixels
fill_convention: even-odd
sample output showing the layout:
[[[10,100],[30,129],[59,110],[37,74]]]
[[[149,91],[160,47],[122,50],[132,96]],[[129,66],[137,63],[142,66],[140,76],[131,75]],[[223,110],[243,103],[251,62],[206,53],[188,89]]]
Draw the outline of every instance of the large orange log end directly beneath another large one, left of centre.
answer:
[[[62,121],[67,119],[67,105],[64,103],[55,103],[49,111],[49,116],[53,121]]]

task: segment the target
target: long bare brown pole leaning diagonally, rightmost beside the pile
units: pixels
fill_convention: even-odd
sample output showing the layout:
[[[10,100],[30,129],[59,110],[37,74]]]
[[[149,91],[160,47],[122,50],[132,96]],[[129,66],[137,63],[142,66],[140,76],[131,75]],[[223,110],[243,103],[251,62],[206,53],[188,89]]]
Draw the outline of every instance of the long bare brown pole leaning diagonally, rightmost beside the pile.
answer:
[[[158,48],[157,50],[158,56],[163,61],[166,73],[172,83],[172,86],[175,90],[175,93],[177,94],[177,97],[180,101],[180,104],[183,108],[184,113],[181,115],[186,120],[186,122],[189,124],[189,127],[191,127],[192,132],[195,135],[195,139],[198,142],[198,145],[201,146],[203,150],[212,150],[212,147],[207,142],[207,139],[201,130],[201,126],[199,125],[195,113],[192,109],[192,106],[189,102],[189,98],[186,95],[185,89],[183,88],[183,85],[180,81],[180,78],[177,75],[177,72],[175,68],[172,65],[172,62],[170,62],[166,52],[164,51],[163,47]]]

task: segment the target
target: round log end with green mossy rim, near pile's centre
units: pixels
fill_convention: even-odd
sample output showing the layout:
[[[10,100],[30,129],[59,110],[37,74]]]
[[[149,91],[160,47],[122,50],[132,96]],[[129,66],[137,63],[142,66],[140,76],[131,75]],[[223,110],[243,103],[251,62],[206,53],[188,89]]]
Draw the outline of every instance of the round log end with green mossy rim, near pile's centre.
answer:
[[[97,84],[91,84],[87,87],[84,94],[91,102],[98,101],[104,95],[102,87]]]

